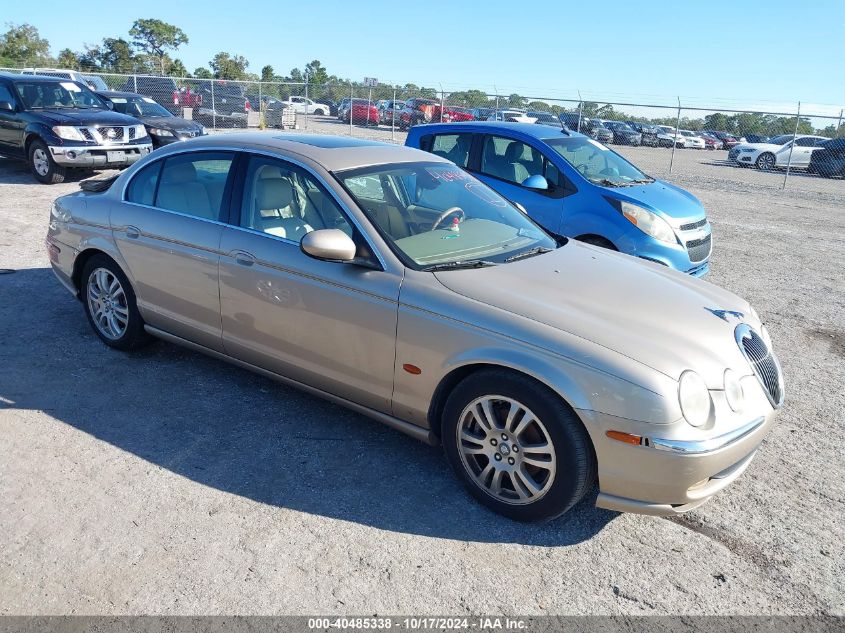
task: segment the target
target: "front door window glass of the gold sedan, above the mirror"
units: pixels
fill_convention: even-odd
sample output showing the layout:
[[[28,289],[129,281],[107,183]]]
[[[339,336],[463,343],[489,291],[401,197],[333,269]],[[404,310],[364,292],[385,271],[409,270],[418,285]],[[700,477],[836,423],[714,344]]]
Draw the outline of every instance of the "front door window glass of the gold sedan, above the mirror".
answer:
[[[313,176],[262,156],[249,161],[240,226],[292,242],[318,229],[340,229],[353,236],[346,216]]]

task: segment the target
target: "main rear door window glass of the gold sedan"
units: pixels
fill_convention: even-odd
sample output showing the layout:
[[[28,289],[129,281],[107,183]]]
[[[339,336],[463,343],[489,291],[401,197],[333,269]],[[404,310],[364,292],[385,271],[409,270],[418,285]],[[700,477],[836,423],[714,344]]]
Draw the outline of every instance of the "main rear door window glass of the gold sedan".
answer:
[[[233,159],[229,152],[196,152],[166,159],[153,206],[219,220]]]

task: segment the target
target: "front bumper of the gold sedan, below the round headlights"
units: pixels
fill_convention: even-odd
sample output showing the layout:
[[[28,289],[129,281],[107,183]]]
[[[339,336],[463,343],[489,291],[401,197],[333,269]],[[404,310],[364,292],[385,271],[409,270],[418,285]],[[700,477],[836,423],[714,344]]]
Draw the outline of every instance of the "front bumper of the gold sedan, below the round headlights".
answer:
[[[769,408],[764,415],[710,437],[668,439],[697,431],[684,421],[654,425],[596,412],[578,413],[585,419],[599,465],[596,505],[653,516],[687,512],[729,486],[748,468],[776,414]],[[641,435],[643,444],[610,439],[609,430]]]

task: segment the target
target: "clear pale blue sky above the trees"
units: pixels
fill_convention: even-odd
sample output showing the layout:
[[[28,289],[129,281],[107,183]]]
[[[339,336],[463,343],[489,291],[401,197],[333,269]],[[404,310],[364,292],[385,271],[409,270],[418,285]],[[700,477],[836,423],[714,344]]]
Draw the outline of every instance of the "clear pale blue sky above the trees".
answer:
[[[368,0],[83,4],[2,0],[0,20],[82,50],[137,18],[182,28],[193,71],[219,51],[277,74],[319,59],[329,74],[446,92],[741,107],[838,115],[845,1]],[[35,10],[33,7],[37,7]],[[106,17],[104,17],[106,16]],[[96,18],[96,19],[95,19]]]

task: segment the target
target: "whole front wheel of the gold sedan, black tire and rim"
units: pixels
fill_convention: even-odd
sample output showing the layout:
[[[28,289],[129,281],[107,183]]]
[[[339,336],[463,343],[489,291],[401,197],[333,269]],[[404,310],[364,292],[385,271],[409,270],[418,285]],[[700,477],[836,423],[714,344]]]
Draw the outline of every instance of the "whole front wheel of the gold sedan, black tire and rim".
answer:
[[[517,521],[560,516],[592,487],[596,461],[572,409],[535,380],[504,369],[465,378],[449,395],[442,439],[478,501]]]

